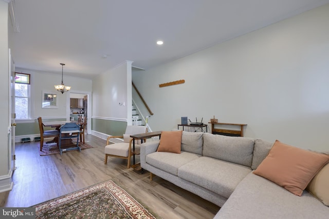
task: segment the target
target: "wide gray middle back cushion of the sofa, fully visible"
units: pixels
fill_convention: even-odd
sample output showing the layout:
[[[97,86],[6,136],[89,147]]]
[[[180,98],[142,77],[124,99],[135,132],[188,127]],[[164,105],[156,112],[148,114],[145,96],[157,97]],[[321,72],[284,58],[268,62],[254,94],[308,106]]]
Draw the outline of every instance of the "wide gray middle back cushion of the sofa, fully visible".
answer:
[[[251,167],[254,139],[204,133],[203,155]]]

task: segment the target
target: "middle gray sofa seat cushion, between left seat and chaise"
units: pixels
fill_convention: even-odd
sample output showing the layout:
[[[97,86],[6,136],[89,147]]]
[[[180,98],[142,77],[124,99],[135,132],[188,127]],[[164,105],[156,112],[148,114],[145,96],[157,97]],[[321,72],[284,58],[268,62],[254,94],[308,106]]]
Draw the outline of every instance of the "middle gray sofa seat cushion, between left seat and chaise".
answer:
[[[228,198],[250,172],[249,167],[203,156],[181,166],[178,176]]]

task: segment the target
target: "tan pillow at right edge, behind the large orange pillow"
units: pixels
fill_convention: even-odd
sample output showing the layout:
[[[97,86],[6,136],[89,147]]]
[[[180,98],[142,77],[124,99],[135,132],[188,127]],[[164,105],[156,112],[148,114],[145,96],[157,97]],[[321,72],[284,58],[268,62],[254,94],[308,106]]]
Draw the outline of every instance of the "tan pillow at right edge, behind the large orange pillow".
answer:
[[[311,194],[329,206],[329,164],[326,164],[306,187]]]

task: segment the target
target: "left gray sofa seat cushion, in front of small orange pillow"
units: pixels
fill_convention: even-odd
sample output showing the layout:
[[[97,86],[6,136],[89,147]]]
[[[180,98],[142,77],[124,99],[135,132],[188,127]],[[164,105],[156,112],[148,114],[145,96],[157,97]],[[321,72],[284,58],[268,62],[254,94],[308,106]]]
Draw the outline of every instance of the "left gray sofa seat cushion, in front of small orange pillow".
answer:
[[[199,158],[200,156],[201,155],[199,154],[186,151],[181,151],[180,154],[170,152],[154,152],[148,154],[145,161],[149,165],[177,175],[179,167]]]

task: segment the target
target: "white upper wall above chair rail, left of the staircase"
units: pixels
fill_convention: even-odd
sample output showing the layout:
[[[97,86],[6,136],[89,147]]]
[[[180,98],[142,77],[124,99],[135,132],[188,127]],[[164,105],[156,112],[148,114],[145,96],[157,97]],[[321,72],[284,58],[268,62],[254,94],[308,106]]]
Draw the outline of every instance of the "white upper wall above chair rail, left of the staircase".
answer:
[[[131,109],[132,105],[131,64],[125,61],[93,79],[93,117],[127,121],[127,109]],[[128,81],[130,83],[127,84]],[[127,92],[129,89],[130,95]]]

